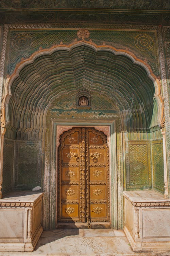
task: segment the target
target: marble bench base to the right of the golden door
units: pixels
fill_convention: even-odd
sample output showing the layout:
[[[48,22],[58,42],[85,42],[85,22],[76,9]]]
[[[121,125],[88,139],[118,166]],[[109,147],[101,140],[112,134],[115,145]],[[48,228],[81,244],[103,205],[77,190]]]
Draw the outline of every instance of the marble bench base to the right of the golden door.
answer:
[[[170,199],[153,190],[124,191],[124,232],[134,251],[170,250]]]

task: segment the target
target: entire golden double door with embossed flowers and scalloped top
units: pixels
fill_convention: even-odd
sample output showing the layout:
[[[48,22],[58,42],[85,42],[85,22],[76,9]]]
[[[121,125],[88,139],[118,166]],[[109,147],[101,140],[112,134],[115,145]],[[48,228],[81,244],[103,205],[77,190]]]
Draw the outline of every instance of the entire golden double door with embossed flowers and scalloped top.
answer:
[[[109,222],[107,137],[94,128],[73,128],[60,137],[58,222]]]

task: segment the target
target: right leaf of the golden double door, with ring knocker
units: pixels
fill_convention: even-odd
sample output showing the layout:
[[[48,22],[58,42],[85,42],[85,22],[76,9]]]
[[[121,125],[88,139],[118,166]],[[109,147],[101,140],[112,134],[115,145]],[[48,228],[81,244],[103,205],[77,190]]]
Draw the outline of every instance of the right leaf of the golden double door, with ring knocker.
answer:
[[[86,128],[87,215],[90,222],[109,221],[109,153],[106,142],[103,132]]]

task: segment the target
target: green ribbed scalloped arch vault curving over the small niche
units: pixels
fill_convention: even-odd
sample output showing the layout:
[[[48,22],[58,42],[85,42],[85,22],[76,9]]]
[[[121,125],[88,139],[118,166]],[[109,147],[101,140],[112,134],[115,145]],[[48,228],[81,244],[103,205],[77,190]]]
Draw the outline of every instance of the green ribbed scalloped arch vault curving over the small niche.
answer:
[[[44,50],[17,67],[8,83],[6,121],[18,133],[38,134],[57,97],[84,89],[115,102],[124,131],[149,131],[160,119],[159,88],[143,63],[81,42]]]

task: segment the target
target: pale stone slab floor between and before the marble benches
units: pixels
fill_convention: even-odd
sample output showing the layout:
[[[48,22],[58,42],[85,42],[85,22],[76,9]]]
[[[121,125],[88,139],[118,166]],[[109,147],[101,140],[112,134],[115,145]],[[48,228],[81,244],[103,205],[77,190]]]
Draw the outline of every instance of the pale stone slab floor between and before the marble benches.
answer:
[[[56,229],[44,231],[34,252],[0,256],[170,256],[170,251],[133,252],[123,230]]]

